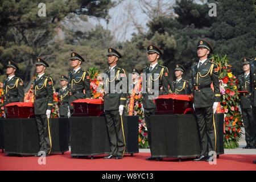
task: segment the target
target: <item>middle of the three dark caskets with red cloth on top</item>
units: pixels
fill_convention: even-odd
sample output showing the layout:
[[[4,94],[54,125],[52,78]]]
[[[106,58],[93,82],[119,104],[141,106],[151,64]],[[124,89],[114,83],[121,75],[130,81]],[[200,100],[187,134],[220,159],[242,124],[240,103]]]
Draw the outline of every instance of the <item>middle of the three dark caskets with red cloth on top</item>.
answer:
[[[102,116],[104,115],[104,101],[99,99],[81,99],[72,102],[73,117]]]

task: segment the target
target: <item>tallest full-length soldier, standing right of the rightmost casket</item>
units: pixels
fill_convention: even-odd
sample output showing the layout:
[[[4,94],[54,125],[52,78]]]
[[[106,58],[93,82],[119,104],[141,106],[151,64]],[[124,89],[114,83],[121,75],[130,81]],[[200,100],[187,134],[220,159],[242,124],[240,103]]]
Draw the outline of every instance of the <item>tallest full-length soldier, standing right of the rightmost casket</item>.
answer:
[[[194,161],[213,161],[210,151],[216,151],[216,127],[214,113],[221,100],[220,85],[218,83],[217,64],[208,59],[213,48],[207,40],[199,40],[197,56],[199,61],[191,67],[193,81],[193,105],[199,125],[201,154]],[[214,92],[210,85],[213,82]]]

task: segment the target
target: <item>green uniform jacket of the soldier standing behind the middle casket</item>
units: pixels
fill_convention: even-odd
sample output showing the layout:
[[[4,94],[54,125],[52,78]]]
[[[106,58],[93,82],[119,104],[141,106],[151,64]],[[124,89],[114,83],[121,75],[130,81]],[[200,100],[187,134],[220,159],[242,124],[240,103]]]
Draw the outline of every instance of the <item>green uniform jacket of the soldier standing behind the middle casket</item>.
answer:
[[[89,72],[80,68],[75,74],[68,73],[69,106],[73,101],[90,98],[90,76]],[[84,94],[85,90],[85,94]],[[73,109],[71,106],[70,109]]]

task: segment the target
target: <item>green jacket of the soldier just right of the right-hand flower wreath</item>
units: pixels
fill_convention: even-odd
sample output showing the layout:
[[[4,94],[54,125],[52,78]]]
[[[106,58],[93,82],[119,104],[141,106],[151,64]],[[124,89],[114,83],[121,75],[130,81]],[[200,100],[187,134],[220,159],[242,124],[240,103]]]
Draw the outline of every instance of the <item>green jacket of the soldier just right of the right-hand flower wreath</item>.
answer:
[[[240,93],[240,105],[242,109],[251,109],[250,102],[250,76],[245,78],[245,75],[238,76],[238,90],[247,91]]]

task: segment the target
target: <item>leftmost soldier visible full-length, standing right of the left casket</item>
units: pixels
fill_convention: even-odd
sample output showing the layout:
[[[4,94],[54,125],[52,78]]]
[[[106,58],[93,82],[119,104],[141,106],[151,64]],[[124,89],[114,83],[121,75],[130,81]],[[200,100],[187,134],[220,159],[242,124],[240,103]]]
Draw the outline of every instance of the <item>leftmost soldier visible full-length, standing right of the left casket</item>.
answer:
[[[40,151],[46,152],[46,156],[51,153],[52,139],[49,118],[53,106],[53,81],[44,72],[49,67],[42,58],[38,58],[36,63],[36,73],[38,76],[32,81],[34,89],[34,111],[36,124],[38,126]],[[39,156],[39,155],[35,155]]]

